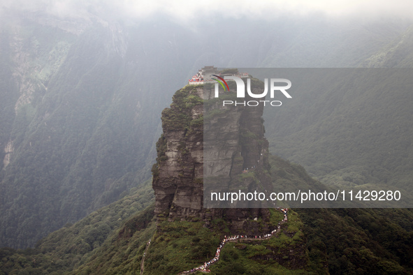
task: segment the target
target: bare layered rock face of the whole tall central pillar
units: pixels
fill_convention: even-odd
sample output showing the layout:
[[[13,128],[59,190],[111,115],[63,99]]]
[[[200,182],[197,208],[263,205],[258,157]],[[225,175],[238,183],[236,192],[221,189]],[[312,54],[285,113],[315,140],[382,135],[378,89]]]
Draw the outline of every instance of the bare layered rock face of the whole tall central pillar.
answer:
[[[226,110],[227,107],[212,101],[210,108],[218,111],[205,114],[208,118],[204,122],[202,98],[209,95],[203,93],[202,86],[187,85],[173,96],[171,108],[162,112],[164,134],[157,142],[157,163],[152,168],[155,214],[158,221],[201,218],[207,224],[211,218],[225,218],[233,232],[259,232],[249,221],[257,217],[267,220],[268,209],[206,209],[203,177],[204,171],[219,174],[215,184],[227,191],[240,186],[252,191],[258,185],[270,190],[270,180],[264,173],[268,168],[268,142],[263,137],[263,106]],[[204,151],[204,146],[209,146],[208,150]],[[214,161],[204,170],[206,151],[205,158]],[[240,177],[246,168],[254,171],[254,177]]]

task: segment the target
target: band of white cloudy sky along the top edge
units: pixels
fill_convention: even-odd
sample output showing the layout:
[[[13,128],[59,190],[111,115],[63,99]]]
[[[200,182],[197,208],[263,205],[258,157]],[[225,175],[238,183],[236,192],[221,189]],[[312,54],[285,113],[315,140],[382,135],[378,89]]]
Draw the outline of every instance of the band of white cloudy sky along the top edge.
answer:
[[[413,19],[412,0],[0,0],[1,6],[42,9],[59,16],[85,15],[88,11],[124,19],[165,15],[187,22],[211,16],[270,19],[280,14],[325,13],[342,17],[408,17]]]

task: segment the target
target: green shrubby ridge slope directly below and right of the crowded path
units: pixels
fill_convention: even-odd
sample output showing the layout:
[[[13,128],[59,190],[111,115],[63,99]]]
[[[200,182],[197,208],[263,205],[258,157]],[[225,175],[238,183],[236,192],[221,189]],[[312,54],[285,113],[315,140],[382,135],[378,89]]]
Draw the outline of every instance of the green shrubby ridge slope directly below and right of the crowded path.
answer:
[[[211,266],[212,274],[320,274],[325,270],[308,268],[303,223],[294,211],[291,221],[266,241],[241,241],[224,246],[219,262]],[[280,211],[271,210],[273,228],[282,219]],[[287,226],[288,225],[288,226]]]

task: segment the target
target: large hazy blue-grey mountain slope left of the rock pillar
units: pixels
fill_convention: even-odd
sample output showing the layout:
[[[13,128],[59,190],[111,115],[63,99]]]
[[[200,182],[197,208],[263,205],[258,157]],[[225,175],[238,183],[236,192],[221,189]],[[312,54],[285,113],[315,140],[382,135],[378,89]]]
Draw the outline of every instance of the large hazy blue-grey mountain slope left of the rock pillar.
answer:
[[[187,70],[145,27],[19,16],[1,25],[0,246],[27,247],[150,177],[163,88]]]

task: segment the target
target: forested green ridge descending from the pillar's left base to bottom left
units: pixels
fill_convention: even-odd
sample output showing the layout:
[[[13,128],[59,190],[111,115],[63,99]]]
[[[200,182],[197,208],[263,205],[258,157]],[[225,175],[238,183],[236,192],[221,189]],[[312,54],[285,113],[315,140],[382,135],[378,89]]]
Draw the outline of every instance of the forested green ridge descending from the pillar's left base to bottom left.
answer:
[[[154,225],[145,223],[153,218],[154,195],[150,181],[140,188],[131,189],[130,195],[107,207],[94,211],[73,225],[52,232],[38,242],[36,248],[14,250],[0,248],[0,271],[6,274],[63,274],[96,258],[103,253],[113,239],[123,232],[139,230],[133,224],[143,226],[147,232],[154,232]],[[131,218],[137,212],[149,207],[149,216],[143,211],[144,218]],[[152,209],[152,210],[150,210]],[[126,221],[126,222],[125,222]],[[147,229],[146,229],[147,228]],[[145,231],[143,230],[143,231]],[[141,242],[149,239],[146,231]],[[103,251],[103,252],[102,252]]]

